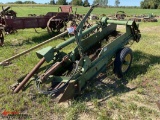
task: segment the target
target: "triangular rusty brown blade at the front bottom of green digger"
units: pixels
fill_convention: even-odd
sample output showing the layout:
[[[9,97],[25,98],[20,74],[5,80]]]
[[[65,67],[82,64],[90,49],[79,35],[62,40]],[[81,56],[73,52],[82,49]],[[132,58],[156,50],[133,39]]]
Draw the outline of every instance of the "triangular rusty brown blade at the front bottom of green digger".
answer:
[[[59,96],[59,103],[60,102],[64,102],[66,100],[72,99],[75,95],[75,81],[72,80],[69,82],[68,86],[66,87],[66,89],[64,90],[64,93],[62,93]]]

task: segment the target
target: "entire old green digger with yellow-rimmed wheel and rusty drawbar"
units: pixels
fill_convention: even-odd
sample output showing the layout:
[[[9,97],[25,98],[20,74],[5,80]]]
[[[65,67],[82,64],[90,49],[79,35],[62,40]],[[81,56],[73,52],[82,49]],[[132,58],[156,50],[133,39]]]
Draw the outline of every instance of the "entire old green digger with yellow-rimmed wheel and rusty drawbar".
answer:
[[[139,42],[141,35],[138,25],[135,21],[103,17],[83,30],[83,24],[95,6],[90,8],[77,26],[74,36],[55,47],[49,46],[36,52],[40,61],[23,80],[11,86],[14,93],[24,89],[32,79],[40,93],[52,95],[63,102],[81,93],[86,82],[106,71],[109,65],[113,64],[113,71],[118,77],[128,71],[132,63],[132,50],[126,45],[131,40]],[[117,24],[125,25],[126,32],[110,41]],[[74,42],[76,45],[72,51],[63,52],[64,47]],[[44,62],[49,65],[46,70],[40,71]]]

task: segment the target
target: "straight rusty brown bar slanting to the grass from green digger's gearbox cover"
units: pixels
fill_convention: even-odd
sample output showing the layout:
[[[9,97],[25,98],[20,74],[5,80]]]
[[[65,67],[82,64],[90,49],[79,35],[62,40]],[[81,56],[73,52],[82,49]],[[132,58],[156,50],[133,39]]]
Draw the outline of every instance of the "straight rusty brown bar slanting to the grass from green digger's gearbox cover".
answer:
[[[38,62],[38,64],[31,70],[31,72],[23,79],[23,81],[14,89],[13,92],[18,93],[44,62],[45,58],[42,58]]]

